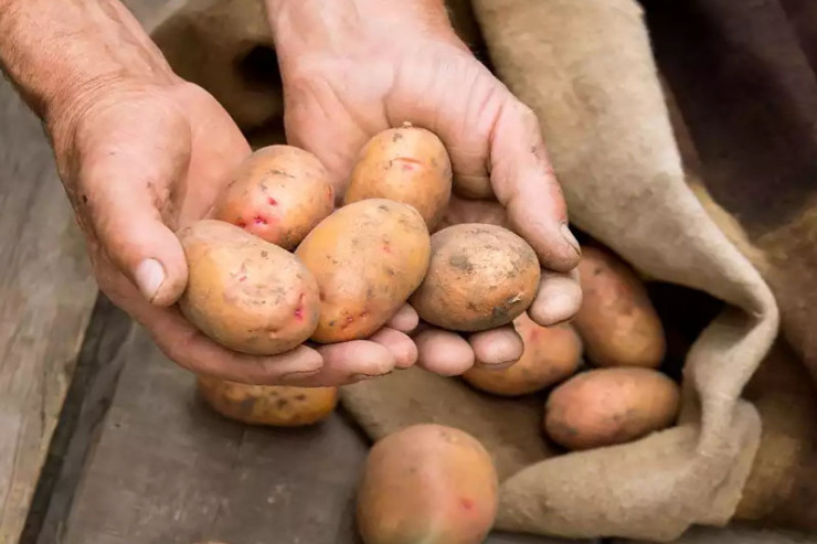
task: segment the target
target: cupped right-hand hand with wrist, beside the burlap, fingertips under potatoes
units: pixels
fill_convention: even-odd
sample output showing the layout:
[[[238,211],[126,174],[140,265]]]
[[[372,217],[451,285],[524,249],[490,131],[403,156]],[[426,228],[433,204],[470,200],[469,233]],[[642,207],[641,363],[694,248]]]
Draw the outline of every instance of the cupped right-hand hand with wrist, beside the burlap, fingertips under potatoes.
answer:
[[[347,0],[331,9],[314,0],[267,4],[287,138],[323,161],[338,194],[374,134],[404,121],[436,132],[450,153],[455,185],[496,199],[507,212],[507,226],[539,255],[545,273],[531,318],[543,326],[570,319],[581,302],[572,275],[580,249],[538,119],[459,41],[442,2]],[[467,217],[468,204],[463,205]],[[447,375],[475,363],[512,364],[523,349],[512,326],[467,341],[426,327],[417,332],[417,364]]]

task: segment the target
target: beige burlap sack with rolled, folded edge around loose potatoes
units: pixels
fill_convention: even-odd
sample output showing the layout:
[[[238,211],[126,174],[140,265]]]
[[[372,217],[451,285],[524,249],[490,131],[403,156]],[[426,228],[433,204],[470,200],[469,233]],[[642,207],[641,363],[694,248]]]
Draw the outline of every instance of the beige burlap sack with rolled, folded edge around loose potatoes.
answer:
[[[467,20],[469,10],[455,8],[452,13]],[[482,440],[502,480],[500,529],[668,541],[692,524],[722,525],[735,513],[802,521],[798,514],[808,514],[803,477],[814,466],[804,454],[814,444],[806,425],[811,407],[800,402],[796,418],[783,415],[793,397],[810,398],[811,386],[795,354],[789,374],[774,362],[785,344],[755,373],[777,330],[775,300],[757,270],[775,285],[770,270],[784,267],[766,266],[768,252],[757,239],[715,206],[703,185],[685,182],[640,7],[628,0],[474,0],[473,11],[487,61],[540,117],[573,224],[656,281],[707,294],[725,308],[685,352],[679,425],[634,444],[561,455],[541,437],[541,397],[490,398],[418,370],[347,388],[346,407],[375,439],[412,423],[438,422]],[[274,53],[261,24],[256,0],[210,0],[191,2],[153,31],[174,67],[213,92],[256,145],[283,138],[279,88],[265,75]],[[474,26],[460,29],[481,51]],[[670,78],[675,90],[678,73]],[[258,74],[269,79],[258,83]],[[700,173],[690,167],[686,174]],[[708,174],[703,170],[707,183]],[[667,311],[682,313],[672,305]],[[779,377],[786,375],[795,377]],[[760,450],[757,409],[740,398],[750,378],[746,397],[766,422]],[[802,508],[787,518],[781,506],[794,503]]]

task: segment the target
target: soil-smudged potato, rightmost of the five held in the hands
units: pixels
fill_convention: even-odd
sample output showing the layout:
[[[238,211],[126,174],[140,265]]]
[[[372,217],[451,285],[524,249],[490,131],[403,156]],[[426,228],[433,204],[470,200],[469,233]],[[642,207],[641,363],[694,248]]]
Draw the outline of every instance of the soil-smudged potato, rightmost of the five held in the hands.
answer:
[[[428,271],[411,303],[421,319],[443,329],[492,329],[530,307],[540,275],[537,254],[507,228],[453,225],[432,236]]]

